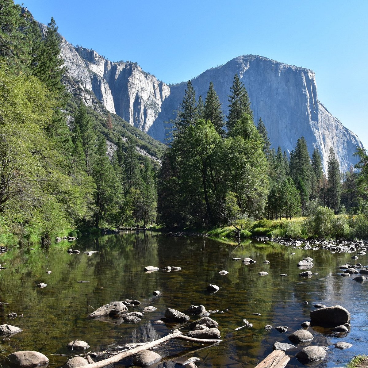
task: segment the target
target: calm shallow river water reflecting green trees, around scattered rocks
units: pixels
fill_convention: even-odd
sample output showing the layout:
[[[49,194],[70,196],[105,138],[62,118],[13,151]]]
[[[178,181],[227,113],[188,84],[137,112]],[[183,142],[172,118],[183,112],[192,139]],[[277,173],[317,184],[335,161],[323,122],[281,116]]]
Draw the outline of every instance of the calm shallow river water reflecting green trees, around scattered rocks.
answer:
[[[68,254],[69,247],[99,253]],[[297,262],[305,256],[314,259],[311,271],[318,272],[318,276],[311,279],[298,276],[301,271]],[[367,265],[367,256],[360,256],[357,262]],[[236,257],[251,257],[257,262],[244,265],[232,259]],[[89,351],[152,341],[177,327],[152,323],[164,316],[166,308],[184,311],[190,305],[203,304],[207,310],[228,309],[211,315],[219,323],[223,342],[208,347],[170,340],[156,349],[166,358],[159,367],[180,367],[171,361],[180,356],[202,358],[201,367],[254,367],[272,352],[275,341],[289,342],[287,336],[300,329],[300,323],[309,321],[314,304],[339,304],[351,314],[348,333],[336,335],[321,328],[309,331],[314,335],[311,344],[329,347],[326,359],[312,366],[341,367],[354,355],[366,353],[368,342],[368,282],[360,284],[339,276],[340,265],[356,262],[350,257],[351,254],[307,251],[273,243],[245,241],[237,245],[202,237],[164,237],[151,232],[62,242],[47,251],[14,249],[0,256],[1,264],[6,263],[7,267],[0,272],[0,302],[8,303],[0,305],[0,322],[23,331],[8,340],[0,337],[1,348],[4,355],[18,350],[40,351],[49,357],[50,367],[61,367],[67,357],[52,354],[78,354],[66,348],[72,340],[88,342]],[[264,264],[265,260],[270,263]],[[182,269],[145,273],[143,269],[148,265]],[[47,270],[52,273],[47,274]],[[221,270],[229,273],[221,276]],[[260,271],[269,274],[259,276]],[[280,277],[281,273],[288,276]],[[89,282],[77,283],[78,280]],[[36,285],[40,282],[48,286],[39,289]],[[220,287],[213,295],[205,292],[210,283]],[[161,294],[153,296],[154,290],[160,290]],[[146,312],[137,325],[115,325],[86,318],[93,309],[124,299],[141,301],[134,310],[141,311],[149,305],[157,310]],[[9,319],[10,312],[24,317]],[[195,319],[193,316],[191,321]],[[248,319],[253,327],[235,330],[244,325],[243,319]],[[266,324],[273,329],[266,331]],[[280,325],[288,326],[288,331],[279,333],[275,327]],[[339,350],[334,347],[338,341],[349,342],[353,347]],[[298,350],[300,347],[287,352],[291,357],[287,367],[302,366],[294,358]],[[119,366],[131,364],[131,359],[126,359]],[[6,367],[6,361],[2,365]]]

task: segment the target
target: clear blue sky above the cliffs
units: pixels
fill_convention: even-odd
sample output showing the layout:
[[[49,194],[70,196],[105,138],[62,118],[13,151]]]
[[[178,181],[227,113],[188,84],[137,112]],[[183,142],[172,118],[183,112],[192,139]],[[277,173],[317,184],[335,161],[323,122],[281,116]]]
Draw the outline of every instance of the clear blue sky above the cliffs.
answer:
[[[318,99],[368,148],[368,1],[24,0],[74,45],[166,83],[243,54],[316,73]]]

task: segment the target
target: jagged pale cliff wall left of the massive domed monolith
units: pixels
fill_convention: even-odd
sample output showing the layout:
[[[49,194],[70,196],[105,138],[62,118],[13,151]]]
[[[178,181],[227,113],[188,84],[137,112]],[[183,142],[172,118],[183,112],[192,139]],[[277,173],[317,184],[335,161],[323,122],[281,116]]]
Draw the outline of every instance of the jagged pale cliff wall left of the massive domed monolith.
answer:
[[[111,113],[121,116],[131,125],[146,132],[161,111],[163,100],[170,88],[130,61],[113,63],[97,52],[83,47],[74,47],[65,39],[61,52],[67,67],[67,75],[79,86],[79,94],[92,106],[88,94],[96,98]]]

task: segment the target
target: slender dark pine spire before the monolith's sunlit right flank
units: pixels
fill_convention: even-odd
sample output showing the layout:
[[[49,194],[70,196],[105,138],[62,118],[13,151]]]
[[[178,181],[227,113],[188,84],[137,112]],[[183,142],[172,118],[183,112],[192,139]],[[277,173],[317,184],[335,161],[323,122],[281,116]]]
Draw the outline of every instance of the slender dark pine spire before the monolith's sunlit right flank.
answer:
[[[340,208],[341,202],[341,174],[340,163],[336,158],[335,151],[332,147],[329,149],[328,161],[327,161],[327,198],[328,206],[337,212]]]

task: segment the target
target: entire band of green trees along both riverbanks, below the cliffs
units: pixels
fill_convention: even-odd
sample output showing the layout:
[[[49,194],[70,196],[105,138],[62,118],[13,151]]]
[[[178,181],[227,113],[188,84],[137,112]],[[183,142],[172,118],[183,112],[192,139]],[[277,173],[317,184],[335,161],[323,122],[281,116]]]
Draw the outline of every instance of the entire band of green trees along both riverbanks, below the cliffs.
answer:
[[[46,244],[74,229],[152,224],[246,229],[325,208],[342,216],[350,236],[367,236],[354,230],[368,229],[364,149],[356,167],[340,173],[331,147],[326,174],[303,137],[290,155],[271,149],[235,75],[227,116],[212,82],[198,100],[188,82],[162,153],[120,117],[67,93],[60,41],[53,18],[40,28],[13,0],[0,0],[1,241],[16,234]],[[108,142],[116,147],[109,156]],[[161,167],[137,145],[162,156]]]

